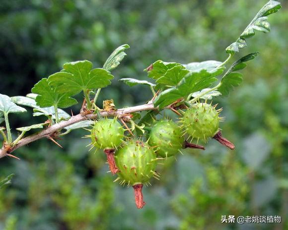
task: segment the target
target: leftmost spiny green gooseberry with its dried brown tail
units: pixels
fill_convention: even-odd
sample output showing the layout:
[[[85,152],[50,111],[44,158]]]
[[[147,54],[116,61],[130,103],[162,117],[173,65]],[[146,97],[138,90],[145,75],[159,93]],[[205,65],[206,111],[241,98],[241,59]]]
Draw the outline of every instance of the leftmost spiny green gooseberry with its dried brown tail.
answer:
[[[91,130],[92,147],[103,149],[107,155],[107,162],[112,174],[118,172],[114,160],[115,149],[122,143],[124,128],[117,121],[117,118],[104,118],[95,122]]]

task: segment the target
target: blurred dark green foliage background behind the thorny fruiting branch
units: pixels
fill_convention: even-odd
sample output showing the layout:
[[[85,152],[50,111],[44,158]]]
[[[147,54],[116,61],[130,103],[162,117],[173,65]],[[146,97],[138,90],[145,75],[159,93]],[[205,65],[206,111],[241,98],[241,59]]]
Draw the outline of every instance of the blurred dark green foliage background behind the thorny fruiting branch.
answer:
[[[223,61],[224,49],[266,2],[0,0],[0,92],[24,96],[67,61],[102,66],[127,43],[128,56],[99,102],[143,104],[149,89],[119,78],[146,79],[143,69],[157,59]],[[65,136],[64,149],[42,139],[18,149],[20,161],[0,160],[0,177],[15,173],[0,190],[0,229],[287,230],[288,3],[282,3],[269,18],[271,33],[258,32],[241,50],[240,56],[260,52],[243,71],[244,83],[229,98],[214,100],[223,107],[221,128],[234,151],[211,140],[206,151],[185,150],[168,160],[159,168],[161,180],[144,188],[146,206],[137,210],[133,189],[106,173],[104,154],[88,153],[88,140],[80,138],[85,130]],[[16,127],[44,119],[31,117],[31,110],[10,115],[15,136]],[[279,215],[282,224],[221,224],[221,215]]]

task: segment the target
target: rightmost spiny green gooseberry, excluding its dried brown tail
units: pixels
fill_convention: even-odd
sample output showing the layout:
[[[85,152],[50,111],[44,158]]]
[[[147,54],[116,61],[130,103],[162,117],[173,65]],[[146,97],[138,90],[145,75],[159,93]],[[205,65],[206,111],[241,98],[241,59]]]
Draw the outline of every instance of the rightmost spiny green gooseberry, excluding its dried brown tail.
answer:
[[[192,139],[205,141],[207,141],[207,138],[215,136],[219,130],[221,119],[218,116],[221,109],[216,110],[215,108],[216,106],[206,103],[193,104],[182,118],[184,132],[188,133]]]

